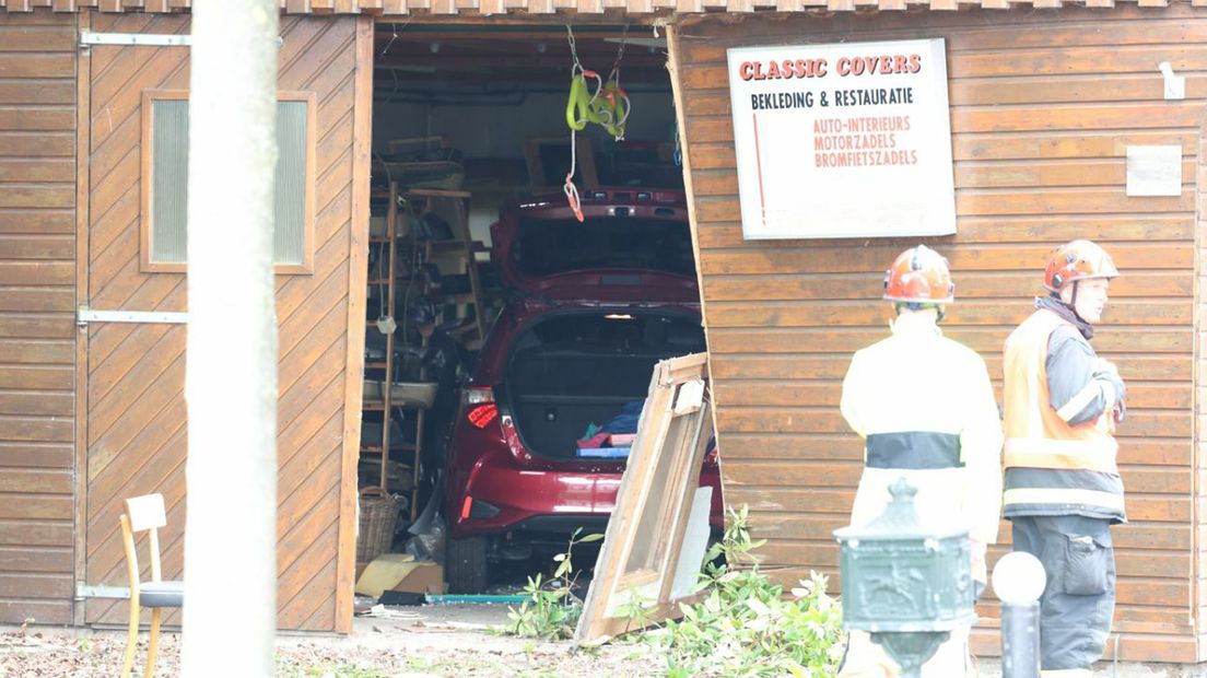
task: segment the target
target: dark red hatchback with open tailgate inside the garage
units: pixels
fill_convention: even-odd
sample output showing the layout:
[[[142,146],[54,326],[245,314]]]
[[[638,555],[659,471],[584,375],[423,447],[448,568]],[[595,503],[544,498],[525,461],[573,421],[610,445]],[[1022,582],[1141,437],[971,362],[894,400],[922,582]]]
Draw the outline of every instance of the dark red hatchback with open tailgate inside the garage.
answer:
[[[584,440],[635,431],[654,363],[705,350],[681,192],[595,189],[579,223],[565,199],[505,209],[492,259],[515,293],[461,399],[445,470],[445,579],[480,592],[491,563],[604,532],[624,450]],[[614,452],[614,454],[608,454]],[[716,450],[711,485],[723,526]]]

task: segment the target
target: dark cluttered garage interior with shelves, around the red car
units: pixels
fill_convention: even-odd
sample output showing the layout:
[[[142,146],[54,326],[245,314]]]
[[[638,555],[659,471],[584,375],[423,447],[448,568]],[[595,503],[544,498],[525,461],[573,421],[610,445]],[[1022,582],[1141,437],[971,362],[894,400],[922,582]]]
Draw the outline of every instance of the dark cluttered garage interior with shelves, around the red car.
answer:
[[[618,74],[630,110],[623,140],[604,125],[587,124],[575,136],[571,158],[566,109],[575,54],[600,76],[599,82],[588,77],[588,92]],[[497,244],[490,227],[508,205],[565,206],[571,162],[575,187],[584,200],[604,195],[595,189],[608,187],[632,188],[631,195],[622,194],[630,200],[651,199],[651,189],[681,192],[665,63],[665,41],[648,27],[576,25],[571,36],[567,27],[550,24],[378,23],[358,573],[369,561],[393,554],[385,557],[396,559],[393,579],[402,580],[392,591],[449,589],[442,581],[447,533],[441,504],[451,429],[491,323],[507,300],[517,298],[517,290],[508,288],[491,262]],[[532,244],[526,252],[529,264],[541,269],[533,259],[544,252]],[[690,250],[688,257],[690,265]],[[555,262],[544,263],[548,270],[558,268]],[[632,320],[639,322],[640,317]],[[582,332],[570,328],[572,322],[560,325],[566,327],[546,323],[546,333]],[[653,329],[658,328],[637,332]],[[702,350],[702,332],[692,341]],[[684,352],[690,351],[678,351]],[[537,374],[555,372],[543,361],[542,369]],[[636,384],[640,402],[649,370],[637,372],[628,381]],[[387,374],[391,388],[384,387]],[[628,384],[618,387],[634,391]],[[625,398],[613,401],[608,407],[622,414]],[[628,401],[632,409],[631,393]],[[554,409],[546,409],[544,416],[549,421],[542,423],[550,423]],[[567,417],[572,423],[558,427],[577,431],[583,421],[604,425],[606,419],[594,413]],[[572,440],[590,431],[552,436]],[[564,550],[565,540],[558,543],[550,542],[548,551],[495,549],[486,579],[496,591],[503,590],[508,577],[521,583],[524,574]],[[421,565],[402,565],[412,559]],[[457,592],[474,592],[463,585],[451,589],[459,588]],[[363,592],[360,585],[358,592]]]

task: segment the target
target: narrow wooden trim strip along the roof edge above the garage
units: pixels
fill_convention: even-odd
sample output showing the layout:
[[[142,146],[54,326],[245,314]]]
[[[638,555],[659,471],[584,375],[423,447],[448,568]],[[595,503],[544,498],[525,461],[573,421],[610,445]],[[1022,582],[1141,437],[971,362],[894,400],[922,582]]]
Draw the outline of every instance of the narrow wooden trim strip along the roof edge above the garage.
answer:
[[[1141,7],[1165,7],[1170,0],[1120,0]],[[1203,0],[1193,0],[1200,5]],[[88,7],[99,7],[106,12],[183,12],[192,6],[192,0],[0,0],[0,10],[8,12],[29,12],[34,7],[54,7],[59,12],[75,12]],[[1033,0],[1015,2],[1010,0],[280,0],[281,12],[288,14],[371,14],[371,16],[494,16],[515,12],[524,16],[577,13],[588,17],[602,16],[605,8],[619,8],[626,14],[667,14],[671,12],[705,12],[721,10],[729,13],[748,13],[757,10],[768,12],[855,12],[856,8],[880,8],[900,11],[906,7],[949,12],[958,7],[984,7],[986,10],[1004,10],[1011,6],[1034,6],[1036,8],[1054,8],[1061,6],[1061,0]],[[1114,7],[1115,0],[1096,0],[1095,7]]]

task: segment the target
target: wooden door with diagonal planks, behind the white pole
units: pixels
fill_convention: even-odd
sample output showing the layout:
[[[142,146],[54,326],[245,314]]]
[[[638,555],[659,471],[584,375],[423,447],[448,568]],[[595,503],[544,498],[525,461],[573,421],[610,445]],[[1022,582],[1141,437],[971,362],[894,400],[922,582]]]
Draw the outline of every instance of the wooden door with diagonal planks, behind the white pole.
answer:
[[[188,17],[97,14],[92,29],[187,33]],[[340,502],[340,483],[349,355],[356,19],[284,18],[281,35],[279,88],[315,94],[317,138],[315,270],[276,279],[278,621],[284,629],[334,631],[339,555],[336,537],[342,512],[351,508]],[[142,92],[187,89],[188,51],[95,47],[92,70],[92,305],[187,310],[183,275],[139,269],[139,145]],[[0,133],[2,121],[0,110]],[[0,238],[5,233],[0,229]],[[52,246],[30,244],[27,250],[37,252]],[[0,309],[0,327],[5,317]],[[88,583],[123,584],[117,516],[126,497],[146,492],[165,496],[169,531],[162,537],[164,575],[180,575],[187,443],[185,328],[95,325],[89,328],[88,357]],[[0,421],[0,431],[2,426]],[[124,604],[88,603],[91,623],[121,623],[124,615]]]

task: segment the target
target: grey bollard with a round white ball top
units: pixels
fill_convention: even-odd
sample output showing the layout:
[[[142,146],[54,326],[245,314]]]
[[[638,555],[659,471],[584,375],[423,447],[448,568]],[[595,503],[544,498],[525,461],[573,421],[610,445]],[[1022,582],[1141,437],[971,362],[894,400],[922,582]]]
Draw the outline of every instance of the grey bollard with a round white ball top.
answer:
[[[1039,596],[1048,585],[1036,556],[1015,551],[993,567],[1002,600],[1002,678],[1039,678]]]

